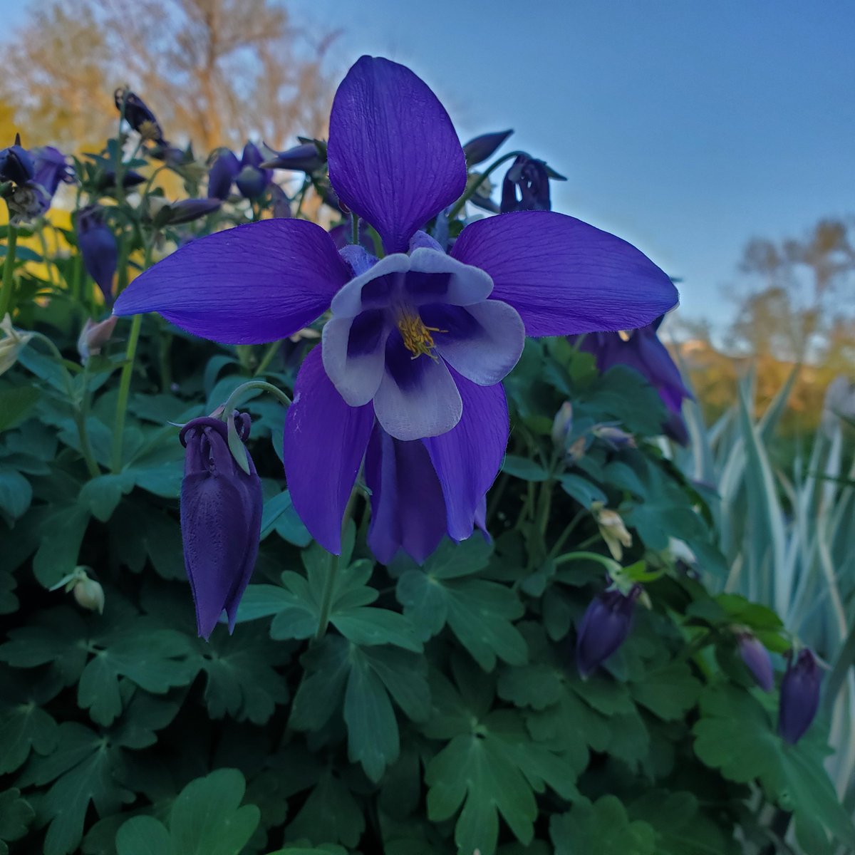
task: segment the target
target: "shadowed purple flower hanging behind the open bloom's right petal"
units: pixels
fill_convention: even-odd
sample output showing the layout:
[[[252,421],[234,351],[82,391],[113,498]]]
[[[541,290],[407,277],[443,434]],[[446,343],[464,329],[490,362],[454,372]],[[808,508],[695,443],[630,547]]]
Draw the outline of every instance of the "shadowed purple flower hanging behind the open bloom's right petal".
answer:
[[[669,417],[662,426],[664,433],[675,442],[687,445],[689,434],[683,421],[682,405],[683,398],[693,398],[693,394],[683,384],[680,369],[657,336],[663,317],[628,333],[586,335],[579,349],[596,357],[600,371],[608,371],[615,365],[628,365],[642,374],[669,410]]]

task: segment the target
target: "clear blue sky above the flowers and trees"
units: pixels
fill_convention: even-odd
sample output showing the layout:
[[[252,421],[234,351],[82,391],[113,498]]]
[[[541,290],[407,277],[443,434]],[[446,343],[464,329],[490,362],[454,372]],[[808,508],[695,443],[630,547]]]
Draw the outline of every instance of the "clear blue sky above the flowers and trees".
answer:
[[[10,6],[12,21],[32,0]],[[505,127],[568,176],[554,207],[680,276],[722,324],[752,236],[855,211],[851,0],[288,0],[335,62],[410,65],[462,140]],[[6,15],[9,23],[9,12]]]

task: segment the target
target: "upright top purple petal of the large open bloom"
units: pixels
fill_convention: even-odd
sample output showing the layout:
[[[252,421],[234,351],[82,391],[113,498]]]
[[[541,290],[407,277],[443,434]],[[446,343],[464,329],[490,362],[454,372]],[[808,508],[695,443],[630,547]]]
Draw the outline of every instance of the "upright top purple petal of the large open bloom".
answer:
[[[437,97],[409,68],[371,56],[335,93],[327,159],[333,189],[387,253],[404,251],[466,186],[463,149]]]

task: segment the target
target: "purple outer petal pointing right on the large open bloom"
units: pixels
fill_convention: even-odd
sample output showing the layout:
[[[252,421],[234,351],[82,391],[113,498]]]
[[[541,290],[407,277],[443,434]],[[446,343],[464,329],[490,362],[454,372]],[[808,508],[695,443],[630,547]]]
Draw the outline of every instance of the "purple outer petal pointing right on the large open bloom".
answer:
[[[642,252],[552,211],[470,223],[451,254],[492,276],[492,298],[519,312],[528,335],[643,327],[677,303],[677,290]]]

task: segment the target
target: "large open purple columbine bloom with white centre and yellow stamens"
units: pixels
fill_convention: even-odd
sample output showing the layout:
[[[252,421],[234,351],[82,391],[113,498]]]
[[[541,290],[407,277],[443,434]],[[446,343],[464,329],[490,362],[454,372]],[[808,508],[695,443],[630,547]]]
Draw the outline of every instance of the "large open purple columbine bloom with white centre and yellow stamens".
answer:
[[[633,246],[550,211],[471,223],[446,254],[421,229],[463,193],[463,149],[433,92],[395,62],[363,56],[348,72],[327,156],[333,190],[385,257],[339,253],[307,221],[260,221],[181,247],[134,280],[115,313],[158,311],[205,338],[252,344],[331,310],[286,421],[294,507],[339,552],[364,458],[374,548],[420,557],[482,521],[508,432],[500,384],[525,334],[640,327],[677,295]]]

